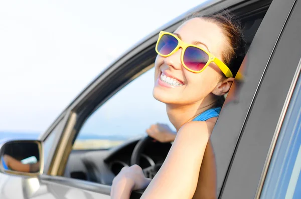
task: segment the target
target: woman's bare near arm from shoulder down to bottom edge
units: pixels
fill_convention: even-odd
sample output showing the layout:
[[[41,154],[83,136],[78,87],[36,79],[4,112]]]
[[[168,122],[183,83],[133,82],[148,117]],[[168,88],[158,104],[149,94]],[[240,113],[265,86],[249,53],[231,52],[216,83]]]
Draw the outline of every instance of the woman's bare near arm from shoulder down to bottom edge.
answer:
[[[189,122],[181,127],[155,178],[141,198],[192,198],[214,122]]]

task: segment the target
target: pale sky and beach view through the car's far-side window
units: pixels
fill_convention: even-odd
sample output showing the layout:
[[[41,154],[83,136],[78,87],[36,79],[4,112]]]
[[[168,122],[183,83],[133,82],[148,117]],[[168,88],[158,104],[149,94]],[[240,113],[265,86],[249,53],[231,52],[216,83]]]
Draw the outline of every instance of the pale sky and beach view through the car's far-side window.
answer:
[[[145,136],[157,122],[173,128],[165,104],[153,97],[154,73],[148,70],[100,106],[83,124],[73,149],[108,149]]]

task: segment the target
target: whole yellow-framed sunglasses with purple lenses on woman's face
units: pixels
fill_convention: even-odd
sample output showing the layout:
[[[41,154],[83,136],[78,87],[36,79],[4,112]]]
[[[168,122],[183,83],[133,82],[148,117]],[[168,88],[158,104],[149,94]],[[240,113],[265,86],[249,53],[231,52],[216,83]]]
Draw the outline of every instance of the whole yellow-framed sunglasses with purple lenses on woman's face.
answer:
[[[171,56],[180,48],[182,48],[181,62],[187,70],[193,73],[200,73],[204,71],[211,62],[214,62],[226,77],[233,77],[228,66],[205,49],[187,44],[172,33],[165,31],[160,32],[156,44],[156,52],[160,56]]]

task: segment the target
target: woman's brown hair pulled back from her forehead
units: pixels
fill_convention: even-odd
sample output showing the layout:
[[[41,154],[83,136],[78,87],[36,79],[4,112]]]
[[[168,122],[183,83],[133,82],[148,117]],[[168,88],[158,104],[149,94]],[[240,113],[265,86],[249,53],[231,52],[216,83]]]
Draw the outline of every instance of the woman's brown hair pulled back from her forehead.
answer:
[[[245,56],[245,41],[243,39],[241,24],[237,17],[228,10],[223,10],[213,15],[194,13],[186,18],[185,21],[193,18],[202,18],[214,22],[223,30],[228,40],[226,49],[222,53],[223,61],[235,77]]]

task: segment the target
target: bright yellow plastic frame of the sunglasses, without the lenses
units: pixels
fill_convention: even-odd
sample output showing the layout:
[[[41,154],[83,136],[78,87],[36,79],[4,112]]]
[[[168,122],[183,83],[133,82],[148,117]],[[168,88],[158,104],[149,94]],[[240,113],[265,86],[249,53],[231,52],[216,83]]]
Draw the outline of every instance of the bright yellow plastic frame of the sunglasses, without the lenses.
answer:
[[[176,38],[178,40],[178,45],[177,47],[168,55],[163,55],[161,54],[159,51],[158,51],[158,45],[159,45],[159,41],[161,40],[161,38],[164,36],[164,35],[170,35],[170,36],[173,36],[174,38]],[[202,70],[200,71],[194,71],[194,70],[191,70],[190,68],[188,68],[185,63],[184,63],[184,53],[186,51],[186,49],[188,47],[194,47],[194,48],[197,48],[197,49],[200,49],[202,51],[204,51],[209,59],[207,61],[207,63],[205,64],[205,66],[202,68]],[[192,44],[188,44],[188,43],[185,43],[183,42],[182,40],[180,40],[176,35],[172,34],[172,33],[169,33],[169,32],[165,32],[165,31],[161,31],[159,33],[159,38],[158,38],[158,41],[157,41],[157,44],[156,44],[156,52],[158,53],[158,55],[162,56],[162,57],[169,57],[171,56],[172,54],[174,54],[175,52],[177,52],[180,48],[182,48],[182,53],[181,53],[181,62],[182,62],[182,65],[189,71],[193,72],[193,73],[201,73],[202,71],[204,71],[207,66],[211,63],[211,62],[214,62],[220,69],[221,71],[225,74],[226,77],[233,77],[233,74],[232,72],[230,71],[230,69],[228,68],[228,66],[223,63],[221,60],[219,60],[217,57],[215,57],[214,55],[212,55],[211,53],[209,53],[208,51],[206,51],[205,49],[199,47],[199,46],[196,46],[196,45],[192,45]]]

